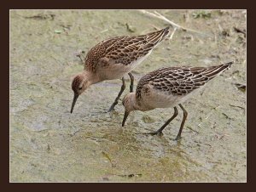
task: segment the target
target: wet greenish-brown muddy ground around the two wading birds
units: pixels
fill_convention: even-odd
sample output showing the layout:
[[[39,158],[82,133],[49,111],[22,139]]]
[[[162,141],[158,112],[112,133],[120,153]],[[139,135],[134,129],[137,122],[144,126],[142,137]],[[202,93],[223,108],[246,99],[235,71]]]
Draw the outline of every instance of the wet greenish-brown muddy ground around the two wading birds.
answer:
[[[119,80],[91,86],[70,114],[78,53],[166,21],[138,10],[10,11],[11,182],[246,182],[246,11],[158,12],[197,32],[177,30],[162,42],[132,71],[135,84],[163,66],[235,61],[183,104],[189,116],[178,142],[182,110],[162,137],[137,133],[158,129],[173,109],[137,111],[125,127],[121,102],[106,113]]]

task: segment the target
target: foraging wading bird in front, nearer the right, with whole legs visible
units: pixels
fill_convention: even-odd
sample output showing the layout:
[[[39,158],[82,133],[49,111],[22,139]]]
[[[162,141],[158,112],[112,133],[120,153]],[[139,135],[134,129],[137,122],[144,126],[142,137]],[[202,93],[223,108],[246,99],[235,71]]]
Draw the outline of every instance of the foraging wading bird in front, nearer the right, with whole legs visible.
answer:
[[[183,121],[176,139],[180,139],[188,116],[182,103],[189,99],[195,90],[202,88],[212,78],[229,69],[232,64],[233,61],[209,67],[167,67],[148,73],[138,82],[136,93],[128,93],[123,99],[125,116],[122,127],[125,126],[127,116],[132,110],[145,111],[173,107],[173,116],[156,132],[149,133],[162,134],[163,129],[177,116],[177,105],[179,105],[183,110]]]

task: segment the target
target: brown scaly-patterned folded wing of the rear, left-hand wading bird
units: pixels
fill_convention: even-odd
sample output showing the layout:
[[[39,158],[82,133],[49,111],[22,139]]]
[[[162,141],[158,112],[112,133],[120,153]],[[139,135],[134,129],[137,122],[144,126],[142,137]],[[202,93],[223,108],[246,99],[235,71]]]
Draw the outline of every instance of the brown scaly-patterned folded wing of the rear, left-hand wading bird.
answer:
[[[102,58],[111,61],[110,63],[129,65],[132,61],[148,54],[169,32],[167,27],[143,36],[113,37],[102,41],[90,49],[84,67],[94,71]]]

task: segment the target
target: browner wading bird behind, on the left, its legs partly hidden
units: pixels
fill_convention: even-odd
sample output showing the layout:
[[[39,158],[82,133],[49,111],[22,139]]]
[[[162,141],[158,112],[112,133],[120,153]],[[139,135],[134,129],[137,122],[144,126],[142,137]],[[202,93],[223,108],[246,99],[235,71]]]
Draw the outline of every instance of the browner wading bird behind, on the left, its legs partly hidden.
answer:
[[[133,89],[134,77],[132,71],[152,50],[169,34],[169,27],[142,36],[113,37],[98,43],[91,48],[85,58],[84,71],[73,78],[73,107],[81,93],[90,85],[105,80],[122,79],[123,85],[118,97],[108,111],[118,104],[119,97],[125,90],[125,73],[131,78],[130,91]]]

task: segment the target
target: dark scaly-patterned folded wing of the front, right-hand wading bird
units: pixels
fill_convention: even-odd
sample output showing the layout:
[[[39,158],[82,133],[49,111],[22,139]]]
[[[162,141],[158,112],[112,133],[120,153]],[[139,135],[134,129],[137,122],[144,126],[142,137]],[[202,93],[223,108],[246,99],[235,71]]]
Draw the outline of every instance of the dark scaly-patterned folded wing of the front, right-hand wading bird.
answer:
[[[210,67],[168,67],[148,73],[138,83],[142,89],[149,84],[160,92],[172,95],[186,95],[196,88],[201,88],[221,72],[227,70],[233,62]],[[138,90],[140,92],[141,90]],[[137,96],[139,96],[138,93]]]

